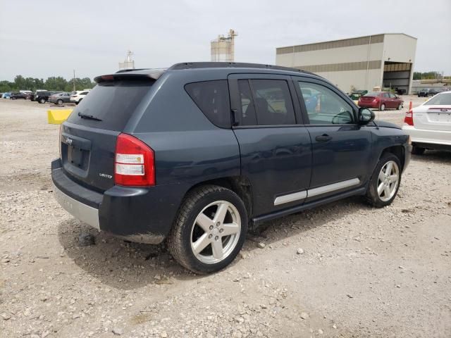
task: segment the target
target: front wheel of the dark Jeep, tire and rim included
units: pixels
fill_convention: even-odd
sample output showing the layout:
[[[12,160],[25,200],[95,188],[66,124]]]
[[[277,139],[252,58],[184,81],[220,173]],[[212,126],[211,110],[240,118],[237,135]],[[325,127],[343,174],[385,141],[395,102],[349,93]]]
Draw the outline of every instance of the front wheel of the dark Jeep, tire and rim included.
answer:
[[[394,154],[385,153],[376,165],[366,192],[366,200],[376,208],[390,205],[400,189],[401,163]]]

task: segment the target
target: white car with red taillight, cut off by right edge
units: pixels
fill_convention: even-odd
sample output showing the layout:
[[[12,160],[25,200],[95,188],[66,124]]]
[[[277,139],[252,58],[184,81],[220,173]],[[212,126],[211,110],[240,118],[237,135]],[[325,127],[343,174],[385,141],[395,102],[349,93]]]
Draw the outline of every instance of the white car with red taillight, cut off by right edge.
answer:
[[[412,154],[451,150],[451,91],[441,92],[406,113],[402,130],[412,139]]]

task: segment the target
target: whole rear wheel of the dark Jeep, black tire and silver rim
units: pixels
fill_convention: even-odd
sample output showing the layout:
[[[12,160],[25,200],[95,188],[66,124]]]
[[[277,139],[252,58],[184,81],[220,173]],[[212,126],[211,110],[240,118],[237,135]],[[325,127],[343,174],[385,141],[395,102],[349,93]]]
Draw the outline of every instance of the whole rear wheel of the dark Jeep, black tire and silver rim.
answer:
[[[245,242],[247,211],[229,189],[206,185],[188,193],[168,236],[168,249],[194,273],[214,273],[232,263]]]

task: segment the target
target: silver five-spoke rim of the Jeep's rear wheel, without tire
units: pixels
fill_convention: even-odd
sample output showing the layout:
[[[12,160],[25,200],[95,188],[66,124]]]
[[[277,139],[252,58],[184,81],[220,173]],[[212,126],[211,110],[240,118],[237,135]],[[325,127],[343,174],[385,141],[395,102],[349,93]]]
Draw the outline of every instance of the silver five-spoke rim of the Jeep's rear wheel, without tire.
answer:
[[[223,261],[240,239],[241,218],[228,201],[214,201],[197,215],[191,229],[191,250],[205,264]]]

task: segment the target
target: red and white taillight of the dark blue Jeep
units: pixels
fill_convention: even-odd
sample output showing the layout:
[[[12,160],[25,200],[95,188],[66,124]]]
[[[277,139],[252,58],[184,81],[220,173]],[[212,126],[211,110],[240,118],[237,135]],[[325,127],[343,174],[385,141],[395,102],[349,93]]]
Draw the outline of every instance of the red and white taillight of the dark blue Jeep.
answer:
[[[116,142],[114,183],[128,187],[155,185],[154,151],[129,134],[120,134]]]

